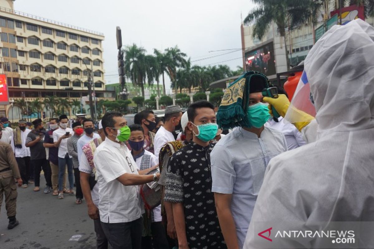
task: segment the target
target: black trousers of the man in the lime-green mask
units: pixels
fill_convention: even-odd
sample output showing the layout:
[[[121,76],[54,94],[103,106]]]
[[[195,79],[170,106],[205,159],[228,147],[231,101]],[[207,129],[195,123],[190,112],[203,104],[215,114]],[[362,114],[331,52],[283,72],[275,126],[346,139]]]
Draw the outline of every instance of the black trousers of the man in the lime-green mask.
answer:
[[[141,249],[143,218],[124,223],[101,222],[102,230],[113,249]]]

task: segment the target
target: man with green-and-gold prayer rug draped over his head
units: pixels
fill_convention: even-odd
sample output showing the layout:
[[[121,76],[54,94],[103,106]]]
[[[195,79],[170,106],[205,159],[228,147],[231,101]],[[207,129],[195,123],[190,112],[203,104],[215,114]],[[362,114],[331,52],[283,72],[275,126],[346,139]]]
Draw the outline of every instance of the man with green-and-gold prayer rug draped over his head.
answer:
[[[211,153],[212,192],[228,248],[243,248],[266,166],[287,150],[283,133],[264,127],[271,116],[261,91],[268,87],[265,75],[246,73],[226,90],[217,113],[223,129],[236,127]]]

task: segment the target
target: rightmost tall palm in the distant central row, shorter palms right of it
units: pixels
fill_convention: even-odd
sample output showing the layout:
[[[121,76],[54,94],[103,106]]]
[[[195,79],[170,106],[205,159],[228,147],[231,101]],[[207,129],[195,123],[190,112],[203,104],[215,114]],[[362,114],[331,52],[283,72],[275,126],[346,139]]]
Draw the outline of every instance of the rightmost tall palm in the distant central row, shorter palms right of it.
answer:
[[[175,96],[177,96],[177,68],[178,67],[184,67],[186,64],[186,57],[187,55],[178,48],[178,46],[175,47],[169,47],[165,49],[166,57],[168,57],[169,64],[167,65],[167,73],[169,75],[169,78],[172,82],[172,85],[174,85],[175,90]]]

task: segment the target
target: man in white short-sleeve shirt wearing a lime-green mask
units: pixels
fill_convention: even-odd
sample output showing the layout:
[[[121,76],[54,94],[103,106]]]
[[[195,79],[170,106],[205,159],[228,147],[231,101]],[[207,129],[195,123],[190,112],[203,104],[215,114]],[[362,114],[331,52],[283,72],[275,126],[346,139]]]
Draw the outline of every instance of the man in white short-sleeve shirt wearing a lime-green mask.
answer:
[[[131,152],[123,143],[128,140],[130,129],[121,113],[108,112],[101,122],[107,138],[93,156],[101,225],[113,249],[140,249],[142,217],[138,185],[158,181],[159,174],[138,174]]]

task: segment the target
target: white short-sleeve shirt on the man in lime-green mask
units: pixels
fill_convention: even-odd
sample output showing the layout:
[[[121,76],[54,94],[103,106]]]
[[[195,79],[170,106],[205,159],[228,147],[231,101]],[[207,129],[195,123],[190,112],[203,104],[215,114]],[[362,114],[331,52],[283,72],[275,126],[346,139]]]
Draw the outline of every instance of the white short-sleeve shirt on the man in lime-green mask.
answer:
[[[125,173],[138,174],[137,164],[127,146],[105,139],[95,150],[93,163],[99,184],[100,220],[122,223],[140,218],[138,186],[124,186],[117,180]]]

